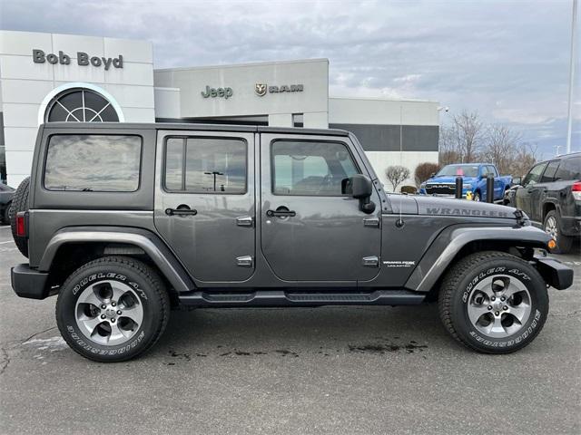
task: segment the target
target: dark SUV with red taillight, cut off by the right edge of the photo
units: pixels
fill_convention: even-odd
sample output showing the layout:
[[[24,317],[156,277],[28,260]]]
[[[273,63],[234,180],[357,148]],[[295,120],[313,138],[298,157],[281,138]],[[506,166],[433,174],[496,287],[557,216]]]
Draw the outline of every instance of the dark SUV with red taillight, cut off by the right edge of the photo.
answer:
[[[581,152],[537,163],[516,181],[510,205],[556,240],[555,252],[570,252],[581,237]]]

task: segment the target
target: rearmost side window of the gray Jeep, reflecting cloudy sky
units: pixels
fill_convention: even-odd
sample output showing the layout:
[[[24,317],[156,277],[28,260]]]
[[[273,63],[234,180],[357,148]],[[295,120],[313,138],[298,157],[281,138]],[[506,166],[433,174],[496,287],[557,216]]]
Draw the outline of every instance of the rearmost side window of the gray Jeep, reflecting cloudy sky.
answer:
[[[44,188],[133,192],[139,189],[141,156],[139,136],[54,135],[46,152]]]

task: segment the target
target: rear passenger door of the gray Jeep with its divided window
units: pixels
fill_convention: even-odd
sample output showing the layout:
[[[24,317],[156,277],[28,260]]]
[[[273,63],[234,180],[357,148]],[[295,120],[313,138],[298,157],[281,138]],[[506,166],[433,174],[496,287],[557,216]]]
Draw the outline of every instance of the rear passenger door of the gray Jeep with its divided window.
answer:
[[[159,133],[155,227],[196,279],[244,281],[255,258],[254,135],[178,133]]]

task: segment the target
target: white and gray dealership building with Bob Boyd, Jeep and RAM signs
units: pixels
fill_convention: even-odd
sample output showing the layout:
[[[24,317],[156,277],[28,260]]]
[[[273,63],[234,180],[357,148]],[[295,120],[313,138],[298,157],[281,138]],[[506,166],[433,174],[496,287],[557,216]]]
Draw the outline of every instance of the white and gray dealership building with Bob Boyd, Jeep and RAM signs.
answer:
[[[0,31],[0,179],[31,169],[39,124],[211,122],[353,131],[379,178],[438,162],[438,103],[329,95],[329,60],[155,69],[148,41]],[[411,179],[404,184],[413,184]]]

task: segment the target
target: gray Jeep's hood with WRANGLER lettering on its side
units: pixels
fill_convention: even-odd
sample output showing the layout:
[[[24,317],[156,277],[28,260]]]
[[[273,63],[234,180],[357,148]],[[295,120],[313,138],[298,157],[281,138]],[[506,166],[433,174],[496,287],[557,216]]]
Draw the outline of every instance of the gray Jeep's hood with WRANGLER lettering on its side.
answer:
[[[417,195],[414,198],[418,202],[418,212],[420,215],[517,219],[515,215],[517,208],[500,206],[498,204],[424,195]],[[527,218],[527,216],[524,216],[524,218]]]

